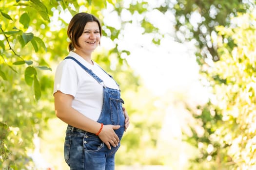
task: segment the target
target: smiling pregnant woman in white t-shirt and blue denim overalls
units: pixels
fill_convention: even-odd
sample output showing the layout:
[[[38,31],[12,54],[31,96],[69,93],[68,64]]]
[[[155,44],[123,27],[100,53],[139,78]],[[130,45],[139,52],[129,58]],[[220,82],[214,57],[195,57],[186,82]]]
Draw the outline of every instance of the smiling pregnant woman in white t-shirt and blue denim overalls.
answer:
[[[67,34],[70,53],[55,73],[55,113],[67,123],[64,158],[70,170],[114,170],[115,153],[129,126],[120,89],[92,60],[101,26],[96,17],[78,13]]]

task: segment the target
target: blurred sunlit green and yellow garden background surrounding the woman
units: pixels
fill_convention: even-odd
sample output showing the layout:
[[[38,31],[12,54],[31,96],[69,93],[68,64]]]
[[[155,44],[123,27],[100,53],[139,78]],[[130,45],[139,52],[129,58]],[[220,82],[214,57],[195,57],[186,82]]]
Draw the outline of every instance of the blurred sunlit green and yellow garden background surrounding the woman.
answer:
[[[0,0],[0,169],[68,170],[52,92],[78,12],[130,116],[117,170],[256,169],[255,0]]]

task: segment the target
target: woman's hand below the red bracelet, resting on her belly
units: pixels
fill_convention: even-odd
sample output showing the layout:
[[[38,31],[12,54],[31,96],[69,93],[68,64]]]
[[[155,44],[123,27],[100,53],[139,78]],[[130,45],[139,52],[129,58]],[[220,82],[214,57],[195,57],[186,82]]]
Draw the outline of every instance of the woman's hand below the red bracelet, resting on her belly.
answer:
[[[117,147],[119,143],[118,135],[114,130],[119,129],[119,125],[104,125],[98,137],[105,143],[108,149],[111,150],[111,145]]]

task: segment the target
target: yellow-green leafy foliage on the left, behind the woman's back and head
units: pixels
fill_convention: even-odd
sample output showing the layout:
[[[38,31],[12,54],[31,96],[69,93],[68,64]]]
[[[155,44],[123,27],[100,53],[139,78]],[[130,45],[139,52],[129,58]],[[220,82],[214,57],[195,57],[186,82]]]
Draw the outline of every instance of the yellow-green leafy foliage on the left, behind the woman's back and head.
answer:
[[[108,0],[108,3],[114,4],[114,1]],[[74,15],[81,6],[102,18],[100,11],[106,7],[106,1],[0,1],[0,167],[3,169],[35,167],[30,157],[34,136],[40,136],[47,120],[55,116],[51,67],[68,52],[67,21],[61,15]],[[118,38],[119,30],[107,25],[105,28],[111,29],[112,40]],[[104,30],[103,34],[106,35]],[[106,57],[98,54],[96,60],[103,66],[109,65],[113,61],[107,56],[112,55],[112,59],[118,61],[116,70],[127,69],[127,73],[117,76],[125,89],[134,76],[120,58],[121,53],[129,51],[119,51],[117,47],[107,52]],[[110,72],[117,74],[115,70]]]

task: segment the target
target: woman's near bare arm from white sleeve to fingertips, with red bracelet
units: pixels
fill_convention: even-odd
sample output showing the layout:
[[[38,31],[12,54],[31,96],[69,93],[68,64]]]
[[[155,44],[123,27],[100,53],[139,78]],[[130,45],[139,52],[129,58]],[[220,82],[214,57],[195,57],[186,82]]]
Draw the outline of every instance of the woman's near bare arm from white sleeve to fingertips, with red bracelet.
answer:
[[[79,111],[72,107],[72,101],[74,97],[72,95],[64,94],[57,91],[54,94],[55,114],[62,121],[82,129],[84,131],[96,134],[101,127],[101,124],[97,121],[87,118]],[[114,129],[118,129],[120,126],[104,125],[98,137],[111,149],[111,146],[118,146],[119,138]]]

